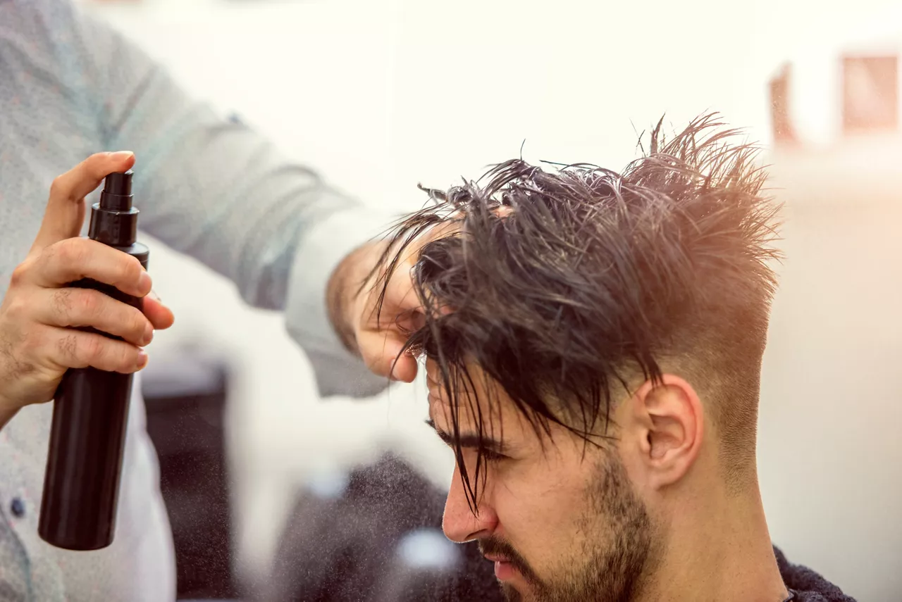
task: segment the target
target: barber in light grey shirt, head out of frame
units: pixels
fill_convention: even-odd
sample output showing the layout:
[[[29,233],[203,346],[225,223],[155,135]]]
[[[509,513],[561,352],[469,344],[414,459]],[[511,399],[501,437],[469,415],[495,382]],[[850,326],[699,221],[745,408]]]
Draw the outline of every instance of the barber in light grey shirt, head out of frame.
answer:
[[[390,373],[403,339],[370,321],[367,300],[357,295],[357,274],[378,257],[368,240],[389,218],[190,100],[142,52],[69,2],[0,1],[0,106],[0,599],[172,599],[171,534],[140,382],[115,542],[67,552],[37,534],[52,410],[40,402],[71,366],[140,369],[140,347],[172,322],[152,296],[142,315],[65,287],[73,276],[89,276],[134,295],[151,289],[124,254],[71,238],[82,229],[84,197],[137,157],[143,230],[232,278],[248,303],[284,309],[324,396],[364,395],[390,374],[415,376],[412,358]],[[405,285],[397,282],[390,296],[400,312]],[[84,325],[125,342],[71,328]]]

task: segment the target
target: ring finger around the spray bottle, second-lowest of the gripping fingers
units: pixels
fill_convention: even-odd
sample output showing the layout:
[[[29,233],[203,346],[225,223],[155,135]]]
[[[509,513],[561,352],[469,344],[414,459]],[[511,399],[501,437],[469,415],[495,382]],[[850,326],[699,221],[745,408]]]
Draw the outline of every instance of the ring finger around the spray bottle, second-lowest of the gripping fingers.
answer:
[[[61,328],[90,326],[144,346],[153,339],[153,325],[141,310],[89,288],[45,288],[38,293],[35,318]]]

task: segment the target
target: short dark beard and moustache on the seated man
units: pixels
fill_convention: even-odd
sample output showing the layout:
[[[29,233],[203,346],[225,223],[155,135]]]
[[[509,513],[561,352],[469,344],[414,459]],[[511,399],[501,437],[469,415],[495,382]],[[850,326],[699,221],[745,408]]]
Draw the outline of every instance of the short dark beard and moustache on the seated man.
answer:
[[[540,579],[511,544],[493,537],[480,541],[483,554],[510,559],[529,583],[528,593],[502,584],[509,602],[629,602],[636,596],[649,569],[652,524],[621,461],[611,458],[600,470],[601,478],[589,492],[589,510],[577,521],[586,541],[566,564],[552,570],[553,578]]]

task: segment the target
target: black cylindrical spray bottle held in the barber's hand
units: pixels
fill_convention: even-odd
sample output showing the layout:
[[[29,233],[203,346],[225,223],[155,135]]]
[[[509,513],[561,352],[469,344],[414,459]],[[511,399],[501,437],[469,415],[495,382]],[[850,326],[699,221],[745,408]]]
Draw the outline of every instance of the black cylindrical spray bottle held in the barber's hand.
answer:
[[[135,242],[131,169],[106,177],[91,209],[88,236],[141,261],[149,251]],[[93,288],[141,309],[142,299],[85,278],[70,287]],[[97,332],[93,329],[87,329]],[[107,333],[99,333],[110,338]],[[132,375],[93,368],[69,369],[53,400],[53,424],[38,533],[68,550],[97,550],[113,542],[119,478]]]

